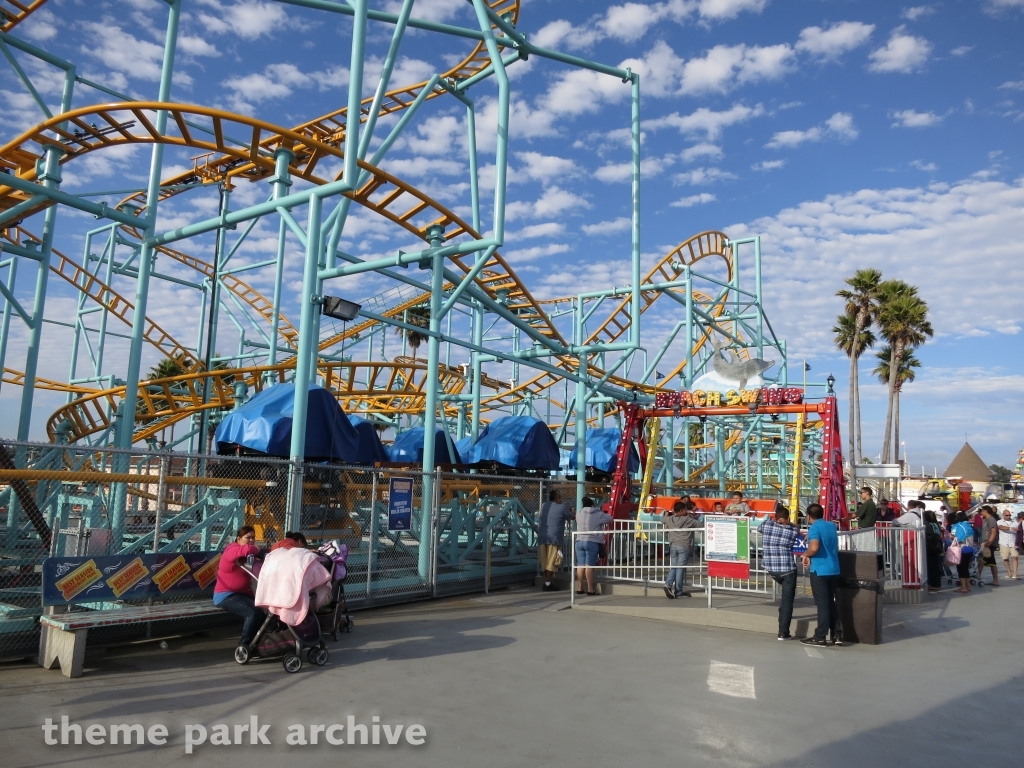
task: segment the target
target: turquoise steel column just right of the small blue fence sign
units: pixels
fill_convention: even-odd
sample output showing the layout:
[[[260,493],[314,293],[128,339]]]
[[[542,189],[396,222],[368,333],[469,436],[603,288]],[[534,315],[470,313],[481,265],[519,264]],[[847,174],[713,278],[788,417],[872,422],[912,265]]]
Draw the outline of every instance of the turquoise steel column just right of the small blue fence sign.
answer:
[[[434,224],[427,228],[432,248],[444,245],[444,227]],[[434,499],[434,431],[437,428],[437,374],[440,364],[441,298],[444,288],[444,257],[431,260],[430,276],[430,337],[427,339],[427,393],[423,409],[423,496],[420,513],[420,550],[417,563],[420,579],[430,577],[430,519]]]

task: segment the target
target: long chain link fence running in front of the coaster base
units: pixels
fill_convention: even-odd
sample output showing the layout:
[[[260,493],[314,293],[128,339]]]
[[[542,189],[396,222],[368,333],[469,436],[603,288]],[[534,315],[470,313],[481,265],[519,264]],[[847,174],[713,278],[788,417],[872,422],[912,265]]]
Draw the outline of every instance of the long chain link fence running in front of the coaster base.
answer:
[[[49,557],[102,557],[113,569],[144,556],[152,570],[154,557],[161,565],[168,558],[159,556],[170,553],[220,551],[244,524],[255,528],[260,546],[295,528],[311,547],[348,547],[348,605],[370,607],[531,583],[544,501],[552,489],[573,506],[577,496],[575,482],[563,479],[316,463],[301,470],[267,457],[0,443],[0,657],[37,652],[44,611],[209,599],[208,590],[156,597],[151,590],[144,599],[127,592],[95,602],[83,593],[75,605],[43,608]],[[291,521],[290,476],[302,481]],[[406,524],[392,514],[395,481],[412,485]],[[598,504],[607,492],[597,483],[586,488]],[[567,569],[568,553],[565,560]],[[234,621],[225,613],[127,624],[90,630],[89,638],[159,637]]]

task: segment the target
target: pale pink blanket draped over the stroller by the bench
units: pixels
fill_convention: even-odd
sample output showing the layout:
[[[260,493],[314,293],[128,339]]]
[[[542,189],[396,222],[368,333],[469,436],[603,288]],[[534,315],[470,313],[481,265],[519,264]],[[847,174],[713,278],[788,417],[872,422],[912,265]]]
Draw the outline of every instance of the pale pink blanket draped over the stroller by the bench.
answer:
[[[278,549],[263,559],[256,585],[256,605],[295,626],[306,617],[309,593],[330,594],[331,574],[307,549]]]

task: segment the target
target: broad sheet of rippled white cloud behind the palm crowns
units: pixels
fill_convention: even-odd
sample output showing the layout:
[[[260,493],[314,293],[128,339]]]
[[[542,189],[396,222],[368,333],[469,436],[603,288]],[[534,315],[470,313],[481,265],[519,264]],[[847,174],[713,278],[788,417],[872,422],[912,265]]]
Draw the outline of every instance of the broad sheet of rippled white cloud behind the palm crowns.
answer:
[[[785,265],[766,272],[767,311],[779,338],[800,340],[790,342],[791,358],[799,359],[833,353],[828,329],[842,310],[836,291],[843,276],[865,266],[919,286],[937,335],[1019,334],[1022,207],[1024,177],[967,179],[830,195],[725,231],[760,233],[762,252]]]

